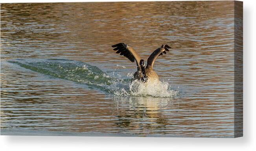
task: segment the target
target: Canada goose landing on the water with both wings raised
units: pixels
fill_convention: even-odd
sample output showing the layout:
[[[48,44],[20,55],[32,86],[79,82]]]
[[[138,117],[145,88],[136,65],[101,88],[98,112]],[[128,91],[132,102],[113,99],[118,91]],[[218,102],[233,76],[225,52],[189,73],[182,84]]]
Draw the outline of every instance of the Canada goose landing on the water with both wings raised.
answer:
[[[163,44],[160,48],[157,48],[147,59],[147,66],[145,68],[145,61],[143,59],[140,59],[140,56],[138,53],[136,53],[133,48],[129,47],[125,43],[118,43],[112,45],[116,53],[120,53],[120,55],[123,55],[127,57],[131,62],[136,61],[137,64],[137,71],[133,74],[133,79],[141,80],[143,82],[147,81],[159,81],[158,75],[153,71],[153,65],[155,63],[155,60],[158,56],[166,54],[166,51],[170,51],[171,48],[167,44]]]

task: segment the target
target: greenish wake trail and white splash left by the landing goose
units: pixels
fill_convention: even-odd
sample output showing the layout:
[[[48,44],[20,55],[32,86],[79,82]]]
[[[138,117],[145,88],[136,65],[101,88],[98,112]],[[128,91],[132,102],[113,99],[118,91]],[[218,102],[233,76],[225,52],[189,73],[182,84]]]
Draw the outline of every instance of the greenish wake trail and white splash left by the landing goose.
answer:
[[[112,77],[98,67],[81,61],[66,59],[15,59],[8,62],[42,74],[92,85],[115,96],[174,98],[179,95],[179,91],[171,89],[168,83],[160,82],[147,85],[141,81],[130,83],[130,79]]]

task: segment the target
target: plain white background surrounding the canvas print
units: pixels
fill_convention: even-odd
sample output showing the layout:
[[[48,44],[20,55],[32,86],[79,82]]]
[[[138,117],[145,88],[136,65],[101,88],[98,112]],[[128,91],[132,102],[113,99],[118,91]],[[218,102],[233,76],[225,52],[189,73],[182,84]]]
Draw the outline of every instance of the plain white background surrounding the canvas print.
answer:
[[[1,0],[1,3],[16,2],[118,2],[125,0]],[[127,0],[126,0],[127,1]],[[128,0],[129,1],[129,0]],[[145,0],[130,0],[145,1]],[[164,0],[161,0],[164,1]],[[173,0],[174,1],[174,0]],[[176,0],[180,1],[180,0]],[[243,79],[244,79],[244,131],[241,138],[141,138],[141,137],[84,137],[84,136],[0,136],[3,151],[44,151],[44,150],[255,150],[256,115],[256,2],[243,0]]]

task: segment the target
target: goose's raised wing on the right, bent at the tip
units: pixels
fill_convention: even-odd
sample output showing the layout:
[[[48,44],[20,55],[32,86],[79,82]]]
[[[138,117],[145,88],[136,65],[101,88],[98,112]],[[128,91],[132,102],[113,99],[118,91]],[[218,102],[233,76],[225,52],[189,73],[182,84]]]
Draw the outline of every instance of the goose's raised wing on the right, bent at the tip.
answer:
[[[147,66],[150,66],[153,68],[153,65],[155,63],[155,60],[157,59],[158,56],[166,54],[166,51],[169,52],[171,49],[170,46],[167,44],[163,44],[160,48],[157,48],[147,59]]]

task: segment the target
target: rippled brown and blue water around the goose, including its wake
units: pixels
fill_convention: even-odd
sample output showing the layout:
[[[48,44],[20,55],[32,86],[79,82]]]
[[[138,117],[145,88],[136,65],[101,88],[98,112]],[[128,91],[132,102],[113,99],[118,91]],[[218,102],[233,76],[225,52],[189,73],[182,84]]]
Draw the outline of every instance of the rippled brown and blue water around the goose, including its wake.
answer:
[[[1,128],[233,137],[233,4],[1,4]],[[160,85],[130,83],[118,42],[144,60],[173,47],[154,65]]]

